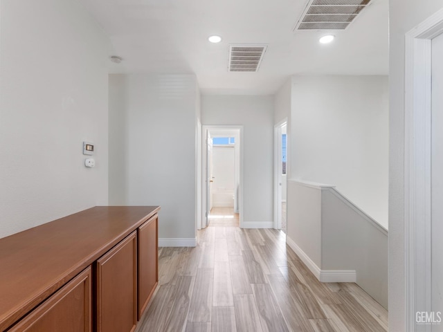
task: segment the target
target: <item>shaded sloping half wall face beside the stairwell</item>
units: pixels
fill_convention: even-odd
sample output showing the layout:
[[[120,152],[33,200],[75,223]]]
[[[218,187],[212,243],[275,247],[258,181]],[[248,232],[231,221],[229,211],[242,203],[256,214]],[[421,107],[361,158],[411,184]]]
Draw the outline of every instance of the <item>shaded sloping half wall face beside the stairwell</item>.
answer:
[[[334,190],[323,190],[321,200],[321,268],[355,270],[356,284],[388,308],[388,232],[350,208]]]

